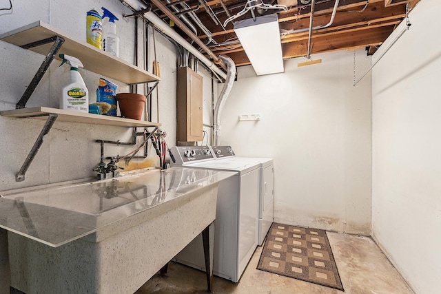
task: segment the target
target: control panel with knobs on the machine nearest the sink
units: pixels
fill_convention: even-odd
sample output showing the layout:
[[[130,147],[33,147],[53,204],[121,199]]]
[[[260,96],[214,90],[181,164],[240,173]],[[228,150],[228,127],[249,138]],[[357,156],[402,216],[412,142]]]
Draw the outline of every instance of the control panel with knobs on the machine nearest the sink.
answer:
[[[170,151],[176,160],[175,165],[216,159],[209,146],[175,146]]]

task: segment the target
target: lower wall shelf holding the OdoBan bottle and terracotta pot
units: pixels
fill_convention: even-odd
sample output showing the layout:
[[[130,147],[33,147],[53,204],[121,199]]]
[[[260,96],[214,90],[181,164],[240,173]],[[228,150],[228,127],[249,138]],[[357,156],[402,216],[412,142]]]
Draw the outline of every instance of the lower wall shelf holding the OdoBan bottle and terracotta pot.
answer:
[[[32,107],[0,112],[2,116],[16,118],[41,118],[46,120],[49,114],[57,114],[57,121],[71,123],[90,123],[94,125],[113,125],[117,127],[158,127],[161,123],[150,123],[143,120],[134,120],[130,118],[121,118],[116,116],[105,116],[100,114],[88,114],[84,112],[72,112],[70,110],[50,108],[50,107]]]

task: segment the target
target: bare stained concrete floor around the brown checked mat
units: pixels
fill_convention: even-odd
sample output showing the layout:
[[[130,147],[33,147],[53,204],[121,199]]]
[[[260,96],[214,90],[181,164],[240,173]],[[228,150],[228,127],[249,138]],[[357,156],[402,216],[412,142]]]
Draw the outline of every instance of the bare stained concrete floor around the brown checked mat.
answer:
[[[338,272],[347,294],[413,294],[400,274],[371,238],[328,233]],[[238,283],[214,277],[213,293],[339,294],[333,288],[256,269],[258,247]],[[205,273],[170,262],[166,275],[156,274],[136,294],[207,293]]]

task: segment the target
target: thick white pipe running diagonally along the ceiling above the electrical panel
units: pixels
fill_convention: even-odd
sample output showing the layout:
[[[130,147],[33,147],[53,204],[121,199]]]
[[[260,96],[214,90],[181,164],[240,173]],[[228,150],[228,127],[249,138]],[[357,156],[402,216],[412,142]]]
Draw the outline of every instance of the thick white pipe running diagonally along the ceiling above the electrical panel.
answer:
[[[160,29],[164,34],[167,34],[167,36],[170,36],[170,38],[174,39],[174,41],[178,42],[183,48],[187,49],[189,52],[191,52],[194,56],[196,56],[197,59],[205,63],[207,67],[209,67],[212,72],[217,74],[218,76],[226,79],[227,74],[220,70],[219,67],[217,67],[213,61],[210,61],[205,57],[201,52],[196,50],[192,45],[190,45],[181,35],[179,35],[175,30],[170,28],[167,23],[165,23],[162,19],[160,19],[154,12],[146,12],[144,14],[144,17],[148,19],[150,22],[152,22],[154,25],[156,25],[156,28]]]

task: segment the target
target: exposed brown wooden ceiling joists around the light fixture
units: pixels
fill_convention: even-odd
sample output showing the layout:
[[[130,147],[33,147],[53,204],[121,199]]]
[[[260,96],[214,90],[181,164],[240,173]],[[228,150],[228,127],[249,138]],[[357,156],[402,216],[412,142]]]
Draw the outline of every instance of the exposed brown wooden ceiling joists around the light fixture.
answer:
[[[157,0],[167,4],[167,0]],[[174,0],[176,1],[176,0]],[[223,3],[221,3],[221,1]],[[262,0],[254,0],[258,3]],[[278,21],[282,32],[294,31],[294,33],[281,36],[283,58],[289,59],[307,54],[308,31],[296,32],[299,29],[309,28],[310,6],[302,5],[300,0],[263,0],[264,3],[288,3],[289,9],[284,10],[256,10],[254,15],[278,13]],[[306,0],[309,1],[310,0]],[[392,0],[394,5],[384,6],[385,0],[340,0],[334,23],[327,28],[313,30],[311,34],[311,54],[330,52],[336,50],[353,50],[354,48],[369,48],[368,53],[373,54],[376,48],[393,32],[396,26],[406,17],[406,4],[409,8],[416,6],[422,0]],[[388,1],[388,0],[386,0]],[[169,0],[170,2],[170,0]],[[305,3],[305,1],[302,1]],[[400,2],[400,3],[399,3]],[[402,2],[402,3],[401,3]],[[238,0],[188,0],[186,4],[176,4],[179,10],[196,8],[194,14],[183,14],[189,21],[198,24],[194,19],[200,20],[206,30],[211,34],[210,43],[207,43],[207,33],[198,29],[198,39],[207,43],[207,47],[214,54],[226,54],[231,57],[236,65],[247,65],[249,60],[242,46],[236,40],[233,30],[233,22],[240,19],[252,18],[251,13],[238,17],[227,23],[223,28],[222,23],[229,17],[235,15],[245,7],[247,1]],[[316,0],[314,8],[313,26],[326,25],[331,19],[335,0]],[[187,5],[187,6],[185,6]],[[170,7],[170,5],[169,5]],[[227,8],[227,12],[225,8]],[[167,19],[161,11],[156,12],[160,17]],[[261,13],[261,14],[259,14]],[[216,24],[216,23],[217,24]],[[176,28],[177,32],[181,32]],[[185,34],[183,34],[184,37]],[[257,36],[258,37],[258,36]],[[195,45],[197,47],[197,45]]]

